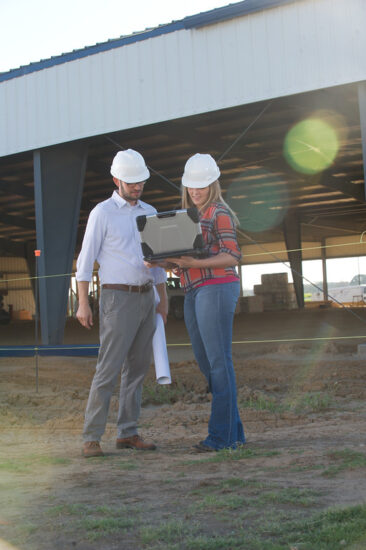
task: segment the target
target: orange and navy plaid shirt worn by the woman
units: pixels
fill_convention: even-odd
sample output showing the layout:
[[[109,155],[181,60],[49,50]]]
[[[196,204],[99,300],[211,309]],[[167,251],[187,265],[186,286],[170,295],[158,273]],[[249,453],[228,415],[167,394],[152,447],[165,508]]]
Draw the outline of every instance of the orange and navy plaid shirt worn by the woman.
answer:
[[[208,257],[226,252],[238,261],[241,252],[236,240],[233,218],[220,202],[213,202],[200,218],[205,252]],[[183,268],[179,270],[181,285],[185,292],[206,284],[239,280],[235,267]]]

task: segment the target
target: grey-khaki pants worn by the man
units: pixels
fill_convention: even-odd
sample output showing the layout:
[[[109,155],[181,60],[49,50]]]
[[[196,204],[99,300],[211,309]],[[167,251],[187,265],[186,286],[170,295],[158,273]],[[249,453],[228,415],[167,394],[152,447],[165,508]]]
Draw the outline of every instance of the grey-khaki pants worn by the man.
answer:
[[[85,411],[84,441],[100,441],[120,374],[117,437],[137,433],[155,331],[154,292],[102,289],[99,315],[100,350]]]

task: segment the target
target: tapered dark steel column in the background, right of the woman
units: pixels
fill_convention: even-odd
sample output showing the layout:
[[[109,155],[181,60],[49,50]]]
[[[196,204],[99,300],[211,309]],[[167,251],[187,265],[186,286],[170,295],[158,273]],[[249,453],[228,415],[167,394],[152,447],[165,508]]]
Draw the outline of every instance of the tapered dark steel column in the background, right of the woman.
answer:
[[[302,279],[302,253],[300,223],[294,213],[289,213],[283,222],[287,256],[290,262],[292,278],[299,308],[304,307],[304,283]]]

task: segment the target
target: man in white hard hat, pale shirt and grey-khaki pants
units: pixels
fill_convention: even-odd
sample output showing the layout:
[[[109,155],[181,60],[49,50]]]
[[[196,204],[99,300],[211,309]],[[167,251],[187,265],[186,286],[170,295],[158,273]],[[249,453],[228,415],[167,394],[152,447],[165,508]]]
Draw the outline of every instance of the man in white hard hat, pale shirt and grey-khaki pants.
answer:
[[[100,440],[120,373],[116,447],[156,448],[137,434],[142,384],[151,361],[155,311],[166,322],[168,309],[166,273],[160,267],[145,266],[136,225],[137,216],[156,212],[140,200],[150,172],[140,153],[128,149],[114,157],[111,174],[118,190],[91,211],[77,260],[76,317],[88,329],[93,325],[88,289],[95,260],[101,285],[100,351],[85,412],[85,458],[103,456]],[[160,298],[157,307],[154,284]]]

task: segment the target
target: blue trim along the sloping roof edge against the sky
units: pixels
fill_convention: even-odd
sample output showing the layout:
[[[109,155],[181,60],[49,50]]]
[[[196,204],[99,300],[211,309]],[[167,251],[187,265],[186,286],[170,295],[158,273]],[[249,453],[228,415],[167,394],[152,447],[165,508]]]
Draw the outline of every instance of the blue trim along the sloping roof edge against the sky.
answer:
[[[69,53],[50,57],[49,59],[43,59],[42,61],[37,61],[35,63],[31,63],[30,65],[19,67],[18,69],[12,69],[6,73],[0,73],[0,82],[12,80],[13,78],[41,71],[42,69],[62,65],[63,63],[67,63],[69,61],[82,59],[83,57],[88,57],[89,55],[106,52],[108,50],[113,50],[114,48],[120,48],[121,46],[127,46],[128,44],[141,42],[142,40],[154,38],[163,34],[168,34],[183,29],[199,28],[205,25],[218,23],[219,21],[233,19],[234,17],[240,15],[298,1],[299,0],[243,0],[242,2],[236,2],[235,4],[223,6],[222,8],[216,8],[214,10],[198,13],[197,15],[190,15],[180,21],[174,21],[172,23],[168,23],[167,25],[161,25],[159,27],[128,36],[121,36],[120,38],[108,40],[107,42],[102,42],[94,46],[88,46],[80,50],[73,50]]]

